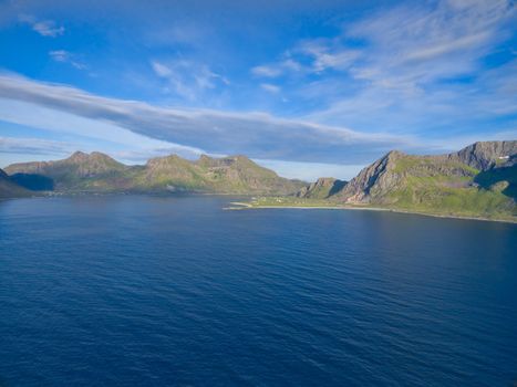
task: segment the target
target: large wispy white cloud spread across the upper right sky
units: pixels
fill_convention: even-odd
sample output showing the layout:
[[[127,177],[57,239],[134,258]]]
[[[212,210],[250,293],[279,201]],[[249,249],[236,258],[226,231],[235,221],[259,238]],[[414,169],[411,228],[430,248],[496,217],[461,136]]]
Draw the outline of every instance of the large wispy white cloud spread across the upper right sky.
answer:
[[[287,79],[282,94],[308,106],[308,121],[443,138],[477,129],[486,138],[517,113],[515,25],[510,0],[405,2],[299,41],[252,71]],[[298,71],[285,71],[286,60]]]

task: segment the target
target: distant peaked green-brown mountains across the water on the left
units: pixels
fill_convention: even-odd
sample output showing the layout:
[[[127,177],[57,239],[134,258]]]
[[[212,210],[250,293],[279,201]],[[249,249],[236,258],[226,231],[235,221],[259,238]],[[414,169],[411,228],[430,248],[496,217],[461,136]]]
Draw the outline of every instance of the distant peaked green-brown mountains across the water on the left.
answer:
[[[303,184],[279,177],[245,156],[196,161],[176,155],[153,158],[145,166],[125,166],[101,153],[74,153],[58,161],[13,164],[11,178],[28,189],[56,191],[195,191],[288,195]]]

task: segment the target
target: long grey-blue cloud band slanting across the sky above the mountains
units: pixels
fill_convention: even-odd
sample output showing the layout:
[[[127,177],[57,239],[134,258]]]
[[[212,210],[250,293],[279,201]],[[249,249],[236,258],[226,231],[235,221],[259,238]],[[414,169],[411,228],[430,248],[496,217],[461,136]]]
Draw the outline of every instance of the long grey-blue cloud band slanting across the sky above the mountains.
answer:
[[[214,154],[244,153],[265,159],[364,163],[394,147],[418,146],[406,137],[362,134],[342,127],[278,118],[265,113],[156,107],[13,75],[0,76],[0,96]]]

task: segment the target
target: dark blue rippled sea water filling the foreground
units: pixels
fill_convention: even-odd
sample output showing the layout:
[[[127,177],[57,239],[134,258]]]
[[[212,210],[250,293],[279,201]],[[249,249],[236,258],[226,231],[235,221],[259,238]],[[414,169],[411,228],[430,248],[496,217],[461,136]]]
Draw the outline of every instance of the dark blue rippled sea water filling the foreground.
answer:
[[[0,202],[0,386],[513,386],[517,226]]]

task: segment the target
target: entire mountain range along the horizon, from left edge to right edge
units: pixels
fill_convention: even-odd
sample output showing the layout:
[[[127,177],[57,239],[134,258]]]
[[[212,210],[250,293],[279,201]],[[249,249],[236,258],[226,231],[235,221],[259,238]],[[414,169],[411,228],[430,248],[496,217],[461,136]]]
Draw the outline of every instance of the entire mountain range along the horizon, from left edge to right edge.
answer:
[[[317,202],[517,220],[517,140],[475,143],[437,156],[393,150],[350,181],[320,178],[310,185],[279,177],[245,156],[187,160],[170,155],[126,166],[97,151],[76,151],[0,170],[0,198],[49,191],[259,195],[258,207]],[[272,197],[283,199],[268,201]]]

